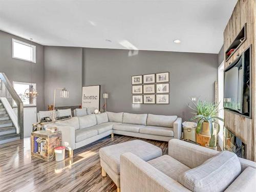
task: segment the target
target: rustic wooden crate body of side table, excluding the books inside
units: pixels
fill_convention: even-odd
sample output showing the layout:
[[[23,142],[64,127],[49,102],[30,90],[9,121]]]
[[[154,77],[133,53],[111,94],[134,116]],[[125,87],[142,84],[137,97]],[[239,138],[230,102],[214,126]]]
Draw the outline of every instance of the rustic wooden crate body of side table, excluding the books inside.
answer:
[[[45,155],[34,153],[34,137],[46,140]],[[31,133],[31,156],[51,161],[55,158],[54,148],[61,145],[61,132],[36,131]]]

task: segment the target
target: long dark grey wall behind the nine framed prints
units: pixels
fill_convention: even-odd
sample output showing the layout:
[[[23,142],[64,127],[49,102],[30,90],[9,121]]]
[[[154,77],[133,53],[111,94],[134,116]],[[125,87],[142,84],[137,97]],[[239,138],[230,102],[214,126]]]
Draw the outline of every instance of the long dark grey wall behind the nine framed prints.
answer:
[[[109,93],[108,111],[191,117],[189,97],[214,101],[218,54],[83,49],[83,86],[100,84]],[[169,104],[132,104],[132,75],[170,72]]]

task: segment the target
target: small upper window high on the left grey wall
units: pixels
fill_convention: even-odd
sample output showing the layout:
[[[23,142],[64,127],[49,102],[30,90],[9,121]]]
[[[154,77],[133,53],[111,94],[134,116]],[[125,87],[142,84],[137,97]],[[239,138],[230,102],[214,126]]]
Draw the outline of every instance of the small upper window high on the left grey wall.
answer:
[[[26,42],[12,39],[12,58],[36,62],[36,47]]]

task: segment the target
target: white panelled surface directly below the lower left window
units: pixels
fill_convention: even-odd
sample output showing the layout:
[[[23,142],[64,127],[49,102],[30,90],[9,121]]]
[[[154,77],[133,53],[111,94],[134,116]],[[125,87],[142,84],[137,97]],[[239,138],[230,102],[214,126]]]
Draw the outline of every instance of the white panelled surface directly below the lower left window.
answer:
[[[17,114],[17,108],[13,110]],[[36,123],[36,108],[24,108],[24,137],[31,136],[34,123]]]

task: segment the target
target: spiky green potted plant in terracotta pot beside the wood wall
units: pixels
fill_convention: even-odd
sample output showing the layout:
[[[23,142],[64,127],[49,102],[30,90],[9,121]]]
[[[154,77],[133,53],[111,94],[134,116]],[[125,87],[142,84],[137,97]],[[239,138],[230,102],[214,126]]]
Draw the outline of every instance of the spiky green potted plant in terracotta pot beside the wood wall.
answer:
[[[199,100],[198,103],[196,104],[193,102],[194,106],[189,106],[190,109],[192,109],[195,114],[193,118],[190,120],[197,120],[197,128],[196,132],[197,134],[205,135],[210,138],[209,144],[207,147],[216,147],[215,142],[216,142],[216,136],[214,135],[214,123],[216,123],[217,126],[217,135],[220,130],[220,124],[218,123],[218,119],[223,121],[222,118],[217,117],[218,114],[218,104],[215,104],[215,102],[207,102],[207,101],[201,101]],[[214,144],[213,144],[214,143]],[[216,147],[217,148],[217,147]]]

